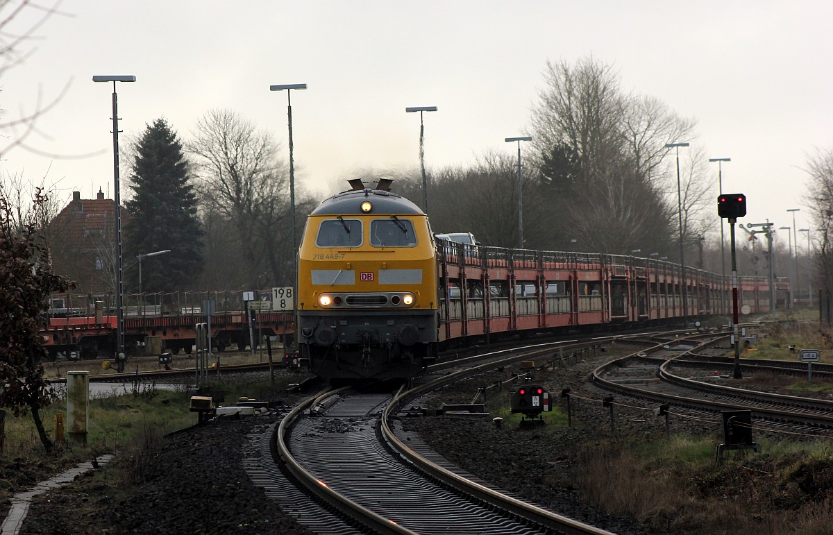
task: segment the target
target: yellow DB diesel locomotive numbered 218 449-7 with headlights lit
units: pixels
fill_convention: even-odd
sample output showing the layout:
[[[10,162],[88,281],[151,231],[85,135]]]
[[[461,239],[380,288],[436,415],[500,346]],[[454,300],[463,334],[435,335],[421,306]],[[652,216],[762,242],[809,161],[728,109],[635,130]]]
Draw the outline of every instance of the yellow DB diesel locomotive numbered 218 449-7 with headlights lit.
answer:
[[[436,356],[436,245],[414,203],[356,179],[307,218],[298,349],[322,378],[411,378]]]

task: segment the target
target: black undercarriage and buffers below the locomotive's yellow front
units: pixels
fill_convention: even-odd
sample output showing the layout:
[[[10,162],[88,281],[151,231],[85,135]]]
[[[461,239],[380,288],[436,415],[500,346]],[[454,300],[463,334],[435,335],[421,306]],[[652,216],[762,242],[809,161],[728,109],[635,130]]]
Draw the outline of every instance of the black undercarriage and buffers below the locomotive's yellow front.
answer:
[[[436,313],[302,313],[299,345],[323,378],[412,378],[436,352]]]

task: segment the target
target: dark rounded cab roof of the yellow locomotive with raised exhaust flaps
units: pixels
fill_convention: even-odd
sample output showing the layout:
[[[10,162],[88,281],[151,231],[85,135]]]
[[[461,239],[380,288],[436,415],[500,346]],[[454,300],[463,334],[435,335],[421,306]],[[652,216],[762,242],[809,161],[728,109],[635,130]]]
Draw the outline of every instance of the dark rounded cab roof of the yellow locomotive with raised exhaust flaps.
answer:
[[[387,188],[390,187],[392,181],[387,178],[382,178],[379,181],[377,189],[364,188],[358,179],[349,182],[353,187],[352,190],[333,195],[331,198],[319,204],[310,215],[422,214],[421,208],[416,206],[416,204],[398,193],[388,191]],[[365,201],[369,201],[372,205],[369,211],[362,210],[362,203]]]

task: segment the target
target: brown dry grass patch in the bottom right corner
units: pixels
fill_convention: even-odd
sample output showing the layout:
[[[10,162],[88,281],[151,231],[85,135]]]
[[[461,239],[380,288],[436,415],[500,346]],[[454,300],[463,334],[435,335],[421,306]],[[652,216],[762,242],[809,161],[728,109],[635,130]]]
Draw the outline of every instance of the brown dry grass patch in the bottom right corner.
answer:
[[[585,450],[575,476],[589,503],[657,532],[833,532],[826,446],[767,449],[715,465],[710,441],[610,443]]]

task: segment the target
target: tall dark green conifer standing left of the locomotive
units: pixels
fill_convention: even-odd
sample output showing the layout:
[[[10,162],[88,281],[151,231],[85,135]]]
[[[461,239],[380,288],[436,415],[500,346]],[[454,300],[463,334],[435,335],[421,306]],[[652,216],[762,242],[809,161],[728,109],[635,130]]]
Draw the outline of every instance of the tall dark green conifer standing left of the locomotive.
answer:
[[[197,218],[193,191],[182,143],[164,118],[148,125],[136,144],[130,188],[125,203],[125,244],[130,256],[170,249],[158,258],[142,259],[142,292],[191,289],[202,268],[202,225]],[[138,289],[138,269],[125,279]]]

